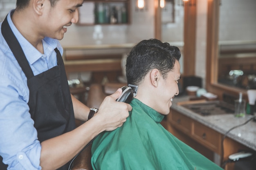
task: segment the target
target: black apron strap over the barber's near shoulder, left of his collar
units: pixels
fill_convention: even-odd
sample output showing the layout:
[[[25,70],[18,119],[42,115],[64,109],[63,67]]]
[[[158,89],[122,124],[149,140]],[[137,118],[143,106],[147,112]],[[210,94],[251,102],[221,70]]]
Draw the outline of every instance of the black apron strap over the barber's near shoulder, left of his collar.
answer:
[[[25,73],[27,79],[33,77],[34,73],[31,67],[29,66],[29,62],[27,61],[27,58],[20,46],[20,43],[18,42],[17,38],[11,31],[11,27],[7,21],[7,17],[2,22],[1,31],[5,41],[9,45],[13,55],[16,57],[16,60],[20,64],[20,67],[22,68],[22,71]]]

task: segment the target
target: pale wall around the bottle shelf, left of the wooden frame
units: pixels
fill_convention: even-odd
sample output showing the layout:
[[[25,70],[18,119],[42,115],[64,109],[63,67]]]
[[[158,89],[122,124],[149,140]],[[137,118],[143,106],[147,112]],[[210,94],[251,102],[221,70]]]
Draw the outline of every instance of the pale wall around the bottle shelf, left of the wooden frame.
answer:
[[[76,46],[97,44],[93,38],[96,27],[103,33],[101,44],[136,43],[142,39],[154,38],[154,0],[147,0],[147,10],[135,11],[135,0],[131,0],[132,22],[129,25],[105,26],[79,26],[72,24],[61,44],[63,46]],[[16,0],[0,0],[0,21],[4,19],[9,10],[15,8]]]

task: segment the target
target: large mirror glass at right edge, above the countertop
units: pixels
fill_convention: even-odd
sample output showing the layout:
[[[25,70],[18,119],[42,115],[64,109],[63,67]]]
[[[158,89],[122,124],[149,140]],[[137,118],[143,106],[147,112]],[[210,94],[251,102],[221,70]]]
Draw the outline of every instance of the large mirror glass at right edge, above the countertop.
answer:
[[[218,84],[256,89],[255,9],[255,0],[220,1]]]

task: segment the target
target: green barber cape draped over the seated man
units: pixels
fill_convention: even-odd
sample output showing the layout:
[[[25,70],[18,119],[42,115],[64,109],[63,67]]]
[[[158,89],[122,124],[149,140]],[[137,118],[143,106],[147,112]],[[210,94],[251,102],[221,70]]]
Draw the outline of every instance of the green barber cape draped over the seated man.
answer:
[[[135,98],[130,105],[123,126],[94,140],[94,170],[223,170],[168,132],[163,115]]]

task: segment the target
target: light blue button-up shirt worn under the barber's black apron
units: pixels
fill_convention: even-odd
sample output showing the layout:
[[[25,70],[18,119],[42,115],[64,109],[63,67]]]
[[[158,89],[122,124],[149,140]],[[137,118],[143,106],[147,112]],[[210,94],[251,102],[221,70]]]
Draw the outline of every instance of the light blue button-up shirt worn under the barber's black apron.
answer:
[[[32,46],[7,15],[9,25],[18,39],[29,65],[38,75],[57,65],[54,49],[63,54],[58,40],[44,38],[44,54]],[[0,23],[1,29],[2,22]],[[9,49],[0,31],[0,155],[9,170],[40,170],[41,145],[34,121],[29,113],[27,78]]]

